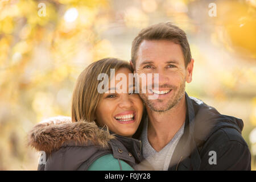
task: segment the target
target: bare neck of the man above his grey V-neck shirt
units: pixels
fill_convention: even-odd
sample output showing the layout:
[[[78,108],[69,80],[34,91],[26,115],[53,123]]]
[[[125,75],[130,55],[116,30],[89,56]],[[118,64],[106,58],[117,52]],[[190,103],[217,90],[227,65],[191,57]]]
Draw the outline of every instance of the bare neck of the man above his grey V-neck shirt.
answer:
[[[168,144],[179,131],[186,116],[185,95],[172,109],[159,113],[147,108],[148,114],[148,142],[156,150],[160,151]]]

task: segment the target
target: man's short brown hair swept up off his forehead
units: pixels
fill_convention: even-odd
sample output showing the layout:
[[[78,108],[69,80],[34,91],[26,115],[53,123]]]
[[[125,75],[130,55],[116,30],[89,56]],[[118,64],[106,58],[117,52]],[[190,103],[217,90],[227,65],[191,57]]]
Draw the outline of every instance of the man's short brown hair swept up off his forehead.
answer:
[[[131,46],[131,63],[133,63],[134,68],[136,67],[137,52],[143,40],[170,40],[181,46],[185,67],[191,61],[191,51],[185,32],[171,22],[158,23],[144,28],[133,40]]]

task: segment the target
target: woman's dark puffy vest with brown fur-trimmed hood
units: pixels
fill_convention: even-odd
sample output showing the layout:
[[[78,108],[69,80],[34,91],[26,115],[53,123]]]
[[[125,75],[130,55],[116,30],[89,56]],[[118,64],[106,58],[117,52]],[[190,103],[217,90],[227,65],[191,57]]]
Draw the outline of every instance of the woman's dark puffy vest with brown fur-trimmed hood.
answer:
[[[28,134],[28,144],[46,152],[46,164],[39,164],[38,170],[86,170],[106,154],[113,154],[134,169],[146,169],[140,140],[110,134],[95,122],[39,123]]]

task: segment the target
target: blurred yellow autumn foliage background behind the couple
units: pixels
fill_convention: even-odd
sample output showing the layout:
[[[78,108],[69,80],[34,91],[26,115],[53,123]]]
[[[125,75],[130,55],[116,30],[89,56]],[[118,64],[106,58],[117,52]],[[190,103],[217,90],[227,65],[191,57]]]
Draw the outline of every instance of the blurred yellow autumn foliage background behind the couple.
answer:
[[[130,60],[151,24],[173,22],[195,59],[189,96],[243,119],[256,169],[255,0],[0,1],[0,170],[36,170],[26,146],[36,123],[71,116],[81,71],[104,57]]]

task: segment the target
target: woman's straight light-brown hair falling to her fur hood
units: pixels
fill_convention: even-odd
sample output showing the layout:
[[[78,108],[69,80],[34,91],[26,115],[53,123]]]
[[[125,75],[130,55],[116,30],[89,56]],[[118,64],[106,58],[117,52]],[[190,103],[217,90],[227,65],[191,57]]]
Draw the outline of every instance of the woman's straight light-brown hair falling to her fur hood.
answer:
[[[110,79],[110,69],[117,71],[120,68],[128,68],[133,72],[128,61],[116,58],[98,60],[82,71],[77,78],[73,91],[71,109],[72,122],[94,121],[97,106],[103,96],[103,94],[98,93],[97,90],[98,84],[101,82],[101,80],[97,80],[97,77],[100,73],[106,73]]]

